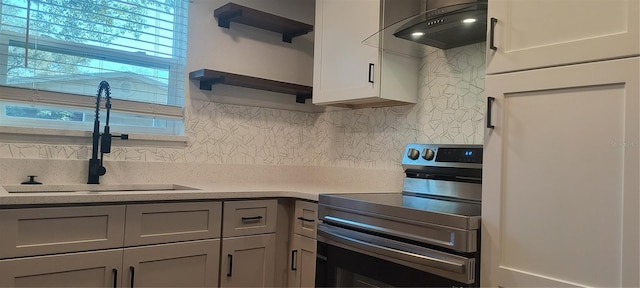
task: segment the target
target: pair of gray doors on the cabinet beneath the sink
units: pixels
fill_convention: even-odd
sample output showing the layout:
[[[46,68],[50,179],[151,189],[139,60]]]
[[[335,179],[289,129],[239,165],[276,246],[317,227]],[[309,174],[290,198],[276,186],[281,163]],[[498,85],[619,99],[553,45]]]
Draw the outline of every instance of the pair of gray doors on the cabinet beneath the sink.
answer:
[[[0,260],[0,287],[215,287],[219,239]]]

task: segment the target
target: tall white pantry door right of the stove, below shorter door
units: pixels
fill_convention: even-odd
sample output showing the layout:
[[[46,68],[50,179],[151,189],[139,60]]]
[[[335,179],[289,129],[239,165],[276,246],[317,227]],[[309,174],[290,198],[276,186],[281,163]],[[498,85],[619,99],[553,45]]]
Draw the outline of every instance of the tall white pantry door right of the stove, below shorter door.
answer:
[[[487,76],[482,286],[640,285],[639,69]]]

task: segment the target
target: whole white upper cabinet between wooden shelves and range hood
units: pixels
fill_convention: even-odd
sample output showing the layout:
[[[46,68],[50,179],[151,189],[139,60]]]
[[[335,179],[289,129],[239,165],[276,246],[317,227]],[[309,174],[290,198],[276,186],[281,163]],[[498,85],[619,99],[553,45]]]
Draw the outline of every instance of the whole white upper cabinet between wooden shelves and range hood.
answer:
[[[362,43],[384,27],[384,9],[394,7],[384,6],[383,0],[316,1],[314,104],[357,108],[416,103],[418,59]]]

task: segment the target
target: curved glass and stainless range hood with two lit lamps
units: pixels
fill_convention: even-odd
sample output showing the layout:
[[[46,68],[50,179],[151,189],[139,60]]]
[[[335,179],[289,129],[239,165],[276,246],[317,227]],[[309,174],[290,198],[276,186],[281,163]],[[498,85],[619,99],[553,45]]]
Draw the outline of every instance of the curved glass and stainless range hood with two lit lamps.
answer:
[[[422,56],[428,50],[424,45],[450,49],[486,40],[486,0],[426,0],[423,7],[422,12],[385,26],[363,44]]]

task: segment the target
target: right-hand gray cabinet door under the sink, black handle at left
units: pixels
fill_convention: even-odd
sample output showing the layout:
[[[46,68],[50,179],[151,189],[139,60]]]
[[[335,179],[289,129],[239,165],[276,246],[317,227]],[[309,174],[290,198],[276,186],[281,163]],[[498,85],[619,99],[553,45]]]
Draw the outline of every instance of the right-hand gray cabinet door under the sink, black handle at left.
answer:
[[[125,248],[123,287],[215,287],[220,240]]]

